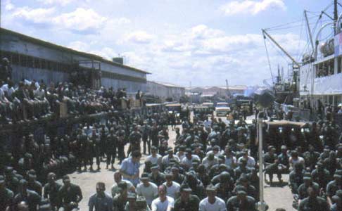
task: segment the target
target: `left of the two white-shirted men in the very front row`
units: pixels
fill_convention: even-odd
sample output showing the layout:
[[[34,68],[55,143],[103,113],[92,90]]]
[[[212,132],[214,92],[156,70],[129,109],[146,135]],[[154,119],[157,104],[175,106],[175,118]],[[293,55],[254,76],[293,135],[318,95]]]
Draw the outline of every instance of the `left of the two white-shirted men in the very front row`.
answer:
[[[152,211],[171,211],[175,200],[170,196],[166,196],[166,186],[161,185],[158,187],[158,198],[152,201]]]

